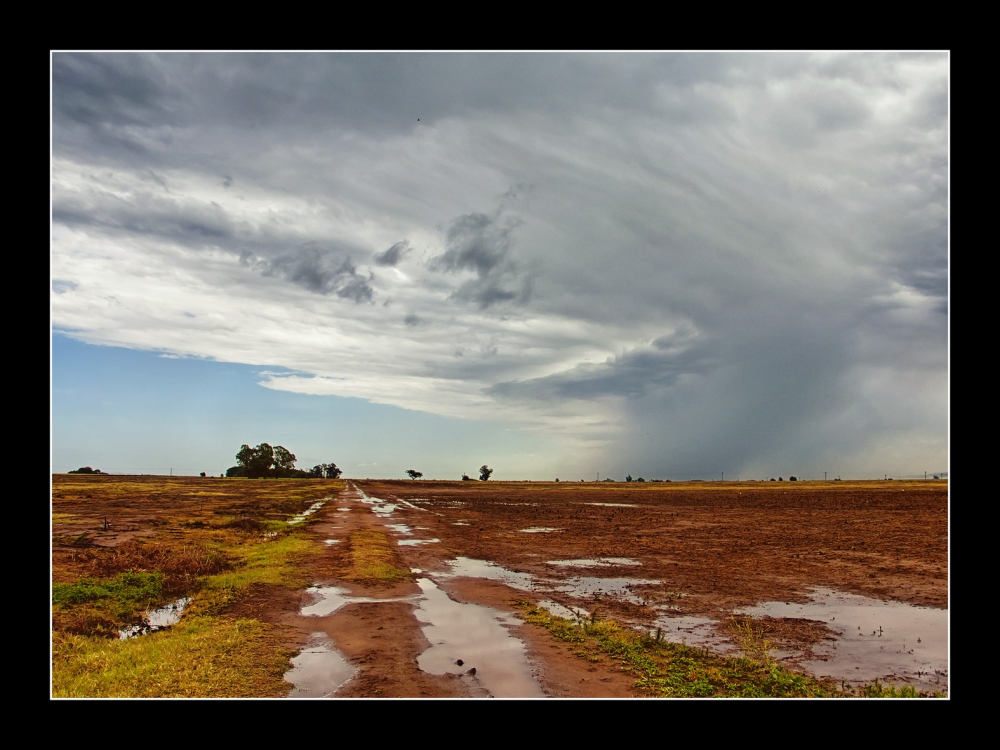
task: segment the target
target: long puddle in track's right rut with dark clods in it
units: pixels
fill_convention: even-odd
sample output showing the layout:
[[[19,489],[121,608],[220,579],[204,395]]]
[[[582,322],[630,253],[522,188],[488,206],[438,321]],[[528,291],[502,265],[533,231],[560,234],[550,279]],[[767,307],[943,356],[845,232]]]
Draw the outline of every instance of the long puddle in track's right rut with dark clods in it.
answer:
[[[456,602],[428,578],[418,578],[424,592],[415,613],[431,647],[417,657],[430,674],[461,674],[471,669],[496,698],[544,698],[531,674],[524,643],[504,625],[513,617],[478,604]],[[456,664],[462,660],[462,665]]]

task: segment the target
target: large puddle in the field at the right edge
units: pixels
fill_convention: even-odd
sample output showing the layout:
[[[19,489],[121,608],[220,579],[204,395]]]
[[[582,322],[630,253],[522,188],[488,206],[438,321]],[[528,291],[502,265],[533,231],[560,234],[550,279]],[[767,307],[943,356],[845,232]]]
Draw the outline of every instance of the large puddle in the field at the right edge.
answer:
[[[766,602],[741,613],[819,620],[838,633],[803,666],[848,682],[896,678],[925,690],[948,687],[948,610],[883,602],[827,588],[806,604]],[[919,641],[918,641],[919,639]]]

